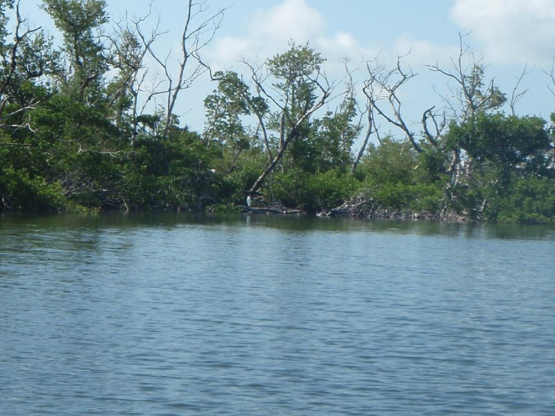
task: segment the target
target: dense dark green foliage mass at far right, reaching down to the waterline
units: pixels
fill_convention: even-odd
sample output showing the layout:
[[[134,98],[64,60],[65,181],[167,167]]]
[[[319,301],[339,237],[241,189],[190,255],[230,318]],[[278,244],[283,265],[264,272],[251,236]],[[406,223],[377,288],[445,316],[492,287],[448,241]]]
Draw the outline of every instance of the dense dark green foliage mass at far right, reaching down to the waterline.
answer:
[[[546,222],[552,209],[549,184],[553,147],[538,117],[478,114],[452,125],[447,146],[469,157],[471,174],[450,189],[452,206],[475,219]],[[545,197],[540,192],[545,192]]]

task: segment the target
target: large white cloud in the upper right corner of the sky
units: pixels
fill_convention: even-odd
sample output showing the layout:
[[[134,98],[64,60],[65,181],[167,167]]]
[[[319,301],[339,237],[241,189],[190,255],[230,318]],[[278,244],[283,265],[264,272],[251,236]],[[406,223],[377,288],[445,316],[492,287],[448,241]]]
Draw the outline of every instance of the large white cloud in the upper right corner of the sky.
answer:
[[[543,65],[555,56],[553,0],[456,0],[451,17],[488,62]]]

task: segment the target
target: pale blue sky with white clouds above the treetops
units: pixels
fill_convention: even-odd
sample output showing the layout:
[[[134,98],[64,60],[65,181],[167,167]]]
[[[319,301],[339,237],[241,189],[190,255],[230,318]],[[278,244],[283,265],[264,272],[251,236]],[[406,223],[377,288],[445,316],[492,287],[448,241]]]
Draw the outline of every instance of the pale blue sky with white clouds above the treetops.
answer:
[[[38,10],[40,0],[21,0],[22,12],[31,22],[53,31],[48,17]],[[152,3],[167,31],[155,45],[161,55],[178,51],[185,19],[184,0],[107,0],[114,19],[143,16]],[[246,67],[241,59],[262,63],[287,50],[289,40],[320,52],[327,62],[327,76],[344,77],[343,58],[355,71],[361,88],[366,60],[379,55],[388,64],[402,62],[418,73],[401,93],[404,116],[415,123],[432,105],[441,107],[438,92],[446,92],[447,79],[429,71],[426,64],[450,69],[450,58],[459,53],[459,33],[486,64],[486,78],[511,95],[524,67],[527,76],[519,91],[527,94],[516,106],[519,115],[545,119],[555,111],[552,81],[555,58],[555,0],[207,0],[207,13],[226,8],[214,40],[203,50],[203,59],[214,69]],[[153,24],[154,17],[147,21]],[[408,55],[407,55],[408,54]],[[176,113],[192,130],[202,130],[203,99],[216,85],[207,77],[196,80],[182,93]],[[341,86],[338,85],[338,92]],[[553,88],[552,88],[553,89]],[[555,89],[554,89],[555,90]],[[447,94],[447,93],[445,93]],[[359,100],[363,100],[359,96]],[[505,109],[509,111],[508,109]],[[392,128],[394,129],[394,128]]]

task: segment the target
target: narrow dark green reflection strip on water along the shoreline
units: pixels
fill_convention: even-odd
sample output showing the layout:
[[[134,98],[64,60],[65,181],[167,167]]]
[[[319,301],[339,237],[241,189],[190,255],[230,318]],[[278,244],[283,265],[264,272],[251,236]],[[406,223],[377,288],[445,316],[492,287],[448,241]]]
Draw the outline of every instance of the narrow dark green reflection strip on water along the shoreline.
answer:
[[[420,220],[359,220],[355,218],[327,218],[306,216],[246,215],[246,214],[104,214],[92,216],[0,216],[0,229],[22,227],[33,229],[104,230],[156,227],[171,229],[183,225],[251,225],[287,232],[393,232],[422,236],[452,236],[486,239],[542,239],[555,241],[555,226],[483,223],[445,223]]]

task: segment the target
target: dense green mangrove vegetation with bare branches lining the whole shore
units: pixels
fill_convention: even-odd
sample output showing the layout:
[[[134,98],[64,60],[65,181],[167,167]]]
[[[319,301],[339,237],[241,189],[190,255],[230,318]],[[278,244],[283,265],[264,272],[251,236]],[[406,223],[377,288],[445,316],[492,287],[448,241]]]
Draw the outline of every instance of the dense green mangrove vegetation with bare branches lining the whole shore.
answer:
[[[449,112],[425,110],[415,134],[400,111],[398,92],[415,75],[402,62],[393,70],[368,62],[359,103],[353,83],[337,92],[309,45],[245,62],[248,82],[212,73],[201,36],[210,25],[214,35],[222,10],[185,27],[172,73],[144,19],[106,35],[103,0],[44,0],[43,8],[60,46],[26,26],[18,3],[0,0],[0,211],[230,210],[250,194],[257,205],[311,213],[371,201],[375,213],[555,222],[553,130],[504,114],[506,95],[486,84],[462,42],[452,69],[430,67],[454,80],[458,100]],[[146,87],[147,55],[165,74],[157,89]],[[201,74],[215,88],[205,129],[194,132],[173,112]],[[404,137],[380,134],[378,118]]]

